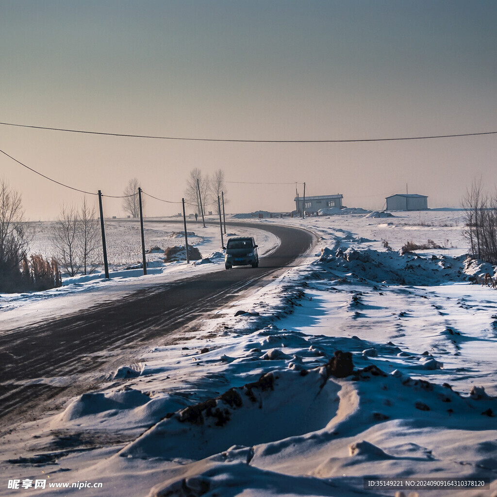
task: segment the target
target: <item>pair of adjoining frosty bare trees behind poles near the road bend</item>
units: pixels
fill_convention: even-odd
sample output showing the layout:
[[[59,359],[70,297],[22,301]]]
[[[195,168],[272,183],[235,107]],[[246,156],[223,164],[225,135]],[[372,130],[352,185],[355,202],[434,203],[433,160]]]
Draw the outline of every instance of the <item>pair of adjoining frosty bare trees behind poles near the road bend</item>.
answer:
[[[199,197],[199,189],[200,195]],[[196,209],[200,214],[200,200],[204,211],[209,207],[209,210],[216,211],[218,214],[218,196],[221,197],[221,192],[224,193],[224,202],[226,199],[226,180],[223,169],[217,169],[212,176],[204,175],[198,168],[192,169],[186,180],[185,202],[190,207]]]

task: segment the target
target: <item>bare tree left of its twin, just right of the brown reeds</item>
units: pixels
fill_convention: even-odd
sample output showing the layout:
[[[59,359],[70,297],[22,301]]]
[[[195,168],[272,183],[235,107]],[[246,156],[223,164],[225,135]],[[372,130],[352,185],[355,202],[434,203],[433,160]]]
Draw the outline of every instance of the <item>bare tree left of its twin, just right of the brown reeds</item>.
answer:
[[[60,255],[60,266],[70,276],[78,274],[82,265],[78,250],[79,225],[78,210],[73,205],[68,207],[63,204],[55,224],[54,246]]]

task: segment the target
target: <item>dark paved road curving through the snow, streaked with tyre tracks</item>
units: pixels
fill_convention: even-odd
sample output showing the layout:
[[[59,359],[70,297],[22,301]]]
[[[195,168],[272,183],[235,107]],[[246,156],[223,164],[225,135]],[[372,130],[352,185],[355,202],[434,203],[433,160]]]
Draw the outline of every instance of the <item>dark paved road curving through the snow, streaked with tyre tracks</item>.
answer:
[[[261,229],[261,224],[236,226]],[[144,345],[231,300],[278,268],[287,266],[312,244],[312,235],[296,228],[263,226],[281,240],[258,268],[202,274],[139,290],[119,301],[102,303],[0,335],[0,418],[3,426],[68,387],[26,385],[29,380],[80,375],[97,370],[109,352]],[[98,353],[102,352],[101,357]],[[92,356],[88,356],[92,354]],[[20,383],[22,382],[22,384]],[[1,419],[0,419],[1,420]]]

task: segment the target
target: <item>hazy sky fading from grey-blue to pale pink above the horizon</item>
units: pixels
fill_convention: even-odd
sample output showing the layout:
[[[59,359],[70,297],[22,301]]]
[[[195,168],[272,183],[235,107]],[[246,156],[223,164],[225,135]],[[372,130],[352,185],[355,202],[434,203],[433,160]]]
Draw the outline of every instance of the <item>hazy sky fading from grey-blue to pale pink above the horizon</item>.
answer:
[[[497,131],[495,1],[0,0],[0,12],[2,123],[218,140]],[[145,216],[178,213],[193,168],[225,171],[227,212],[290,211],[304,182],[306,196],[376,210],[406,185],[428,207],[460,205],[474,179],[496,189],[496,134],[238,143],[0,124],[0,150],[92,202],[133,177],[179,202],[145,196]],[[4,154],[26,218],[81,204]],[[103,208],[125,214],[118,198]]]

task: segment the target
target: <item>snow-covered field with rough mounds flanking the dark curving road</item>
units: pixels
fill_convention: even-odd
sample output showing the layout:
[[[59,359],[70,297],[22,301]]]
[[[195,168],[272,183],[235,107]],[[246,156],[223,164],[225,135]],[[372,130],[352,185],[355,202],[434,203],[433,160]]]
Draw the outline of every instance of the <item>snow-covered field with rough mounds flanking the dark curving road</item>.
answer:
[[[81,496],[394,496],[364,490],[364,478],[448,477],[493,483],[404,493],[497,496],[497,291],[468,282],[492,268],[465,264],[460,211],[394,215],[261,221],[319,241],[184,343],[152,344],[100,390],[5,433],[0,495],[73,495],[50,485],[78,482]],[[256,236],[263,250],[277,244]],[[399,252],[428,240],[444,248]],[[92,285],[111,298],[119,286],[223,268],[213,260],[72,282],[57,299],[2,296],[1,314],[19,323],[33,298],[61,308]],[[19,490],[7,488],[14,479]],[[36,480],[45,489],[29,487]]]

